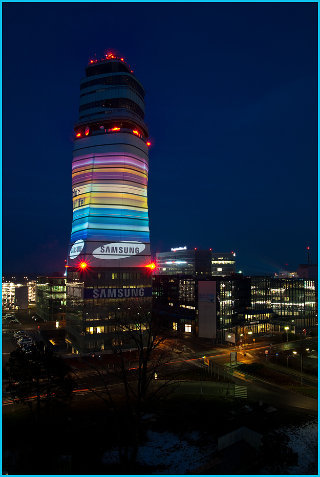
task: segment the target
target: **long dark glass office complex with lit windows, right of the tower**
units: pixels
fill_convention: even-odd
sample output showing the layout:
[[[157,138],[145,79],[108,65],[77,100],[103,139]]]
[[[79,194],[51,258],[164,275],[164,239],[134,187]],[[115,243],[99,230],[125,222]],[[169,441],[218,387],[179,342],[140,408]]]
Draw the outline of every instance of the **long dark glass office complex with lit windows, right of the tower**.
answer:
[[[273,333],[317,323],[312,280],[154,275],[153,294],[168,328],[200,337],[220,340],[226,332]]]

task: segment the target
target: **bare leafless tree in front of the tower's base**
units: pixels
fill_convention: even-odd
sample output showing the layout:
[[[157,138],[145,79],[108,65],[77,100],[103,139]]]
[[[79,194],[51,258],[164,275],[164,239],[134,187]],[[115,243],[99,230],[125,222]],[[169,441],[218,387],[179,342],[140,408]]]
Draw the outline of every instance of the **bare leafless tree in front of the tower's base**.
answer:
[[[105,390],[102,399],[117,419],[119,459],[126,465],[136,461],[141,433],[154,417],[148,416],[152,405],[172,393],[179,382],[164,369],[173,353],[166,341],[175,336],[161,325],[150,300],[130,299],[121,305],[120,311],[110,320],[115,368],[102,366],[96,372]],[[130,371],[133,362],[134,371]],[[110,375],[121,384],[117,394],[115,387],[106,382]]]

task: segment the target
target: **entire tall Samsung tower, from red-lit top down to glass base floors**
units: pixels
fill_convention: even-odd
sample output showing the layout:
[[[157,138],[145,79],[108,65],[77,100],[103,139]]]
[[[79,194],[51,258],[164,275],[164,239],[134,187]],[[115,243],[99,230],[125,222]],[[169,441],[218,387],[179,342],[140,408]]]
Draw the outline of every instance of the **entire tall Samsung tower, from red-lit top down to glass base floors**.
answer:
[[[144,88],[112,53],[85,71],[67,260],[66,339],[75,352],[111,350],[112,321],[130,300],[152,296]]]

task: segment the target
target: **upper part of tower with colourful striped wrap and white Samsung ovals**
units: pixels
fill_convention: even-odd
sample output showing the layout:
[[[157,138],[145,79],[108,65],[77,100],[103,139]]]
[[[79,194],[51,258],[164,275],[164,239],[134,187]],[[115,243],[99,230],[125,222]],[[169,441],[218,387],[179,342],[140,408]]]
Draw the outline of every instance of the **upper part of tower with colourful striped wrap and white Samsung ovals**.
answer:
[[[151,261],[145,91],[112,53],[85,71],[74,124],[67,267],[144,267]]]

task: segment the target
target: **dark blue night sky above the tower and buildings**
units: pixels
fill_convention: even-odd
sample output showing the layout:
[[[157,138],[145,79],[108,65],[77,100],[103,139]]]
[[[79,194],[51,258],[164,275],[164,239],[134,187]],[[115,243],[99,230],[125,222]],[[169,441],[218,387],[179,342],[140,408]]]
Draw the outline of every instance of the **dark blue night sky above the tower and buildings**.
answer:
[[[317,3],[4,3],[3,275],[63,270],[90,59],[146,89],[152,253],[317,262]]]

